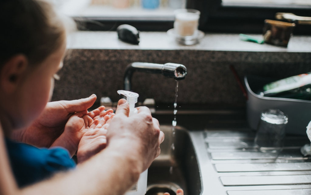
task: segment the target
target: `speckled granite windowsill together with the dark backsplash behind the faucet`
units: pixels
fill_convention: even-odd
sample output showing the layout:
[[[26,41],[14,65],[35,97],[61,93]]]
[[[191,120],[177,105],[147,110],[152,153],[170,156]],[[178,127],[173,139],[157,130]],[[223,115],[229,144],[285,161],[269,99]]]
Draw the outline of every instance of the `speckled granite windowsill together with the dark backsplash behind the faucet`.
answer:
[[[139,46],[121,42],[116,32],[76,32],[68,40],[64,67],[53,100],[73,100],[96,94],[117,101],[125,67],[135,61],[183,64],[188,74],[179,81],[178,102],[244,107],[234,78],[252,74],[275,78],[311,70],[311,37],[294,36],[288,48],[239,40],[237,34],[206,34],[194,46],[180,46],[165,32],[142,32]],[[261,36],[261,35],[254,35]],[[132,91],[139,101],[154,98],[173,103],[176,82],[162,75],[134,73]]]

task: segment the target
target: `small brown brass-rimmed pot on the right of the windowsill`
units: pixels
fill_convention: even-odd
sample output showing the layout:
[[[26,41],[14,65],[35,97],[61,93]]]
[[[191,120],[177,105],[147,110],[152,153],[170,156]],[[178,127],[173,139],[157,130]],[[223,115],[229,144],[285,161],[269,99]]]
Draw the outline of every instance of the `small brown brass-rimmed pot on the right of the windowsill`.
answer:
[[[294,23],[265,20],[263,39],[266,43],[287,47],[290,37],[293,35],[294,28]]]

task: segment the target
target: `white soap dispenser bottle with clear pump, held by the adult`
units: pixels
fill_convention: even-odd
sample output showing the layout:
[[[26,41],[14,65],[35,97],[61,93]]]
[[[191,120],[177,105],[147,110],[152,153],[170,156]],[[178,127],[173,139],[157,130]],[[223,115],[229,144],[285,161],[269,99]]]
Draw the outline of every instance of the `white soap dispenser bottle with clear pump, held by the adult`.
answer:
[[[130,106],[129,116],[137,113],[135,104],[137,103],[138,94],[132,91],[118,90],[118,94],[122,94],[126,97],[126,101]],[[129,188],[129,190],[124,195],[145,195],[147,190],[147,176],[148,169],[139,175],[138,181]]]

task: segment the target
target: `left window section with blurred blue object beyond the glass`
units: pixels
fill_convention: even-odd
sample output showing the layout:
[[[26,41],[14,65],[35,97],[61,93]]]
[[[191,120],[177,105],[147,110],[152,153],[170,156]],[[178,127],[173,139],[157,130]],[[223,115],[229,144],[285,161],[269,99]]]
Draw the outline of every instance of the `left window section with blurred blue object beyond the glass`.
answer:
[[[174,10],[186,4],[186,0],[50,1],[86,30],[115,30],[120,24],[130,24],[141,31],[166,31],[173,28]]]

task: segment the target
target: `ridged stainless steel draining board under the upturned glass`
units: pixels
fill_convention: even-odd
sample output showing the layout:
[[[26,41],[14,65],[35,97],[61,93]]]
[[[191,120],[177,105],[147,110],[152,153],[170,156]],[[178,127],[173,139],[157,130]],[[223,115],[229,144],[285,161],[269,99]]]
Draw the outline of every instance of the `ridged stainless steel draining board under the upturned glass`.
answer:
[[[288,135],[281,153],[262,153],[249,129],[208,129],[190,135],[202,171],[202,194],[311,194],[311,158],[300,153],[310,143],[307,136]]]

